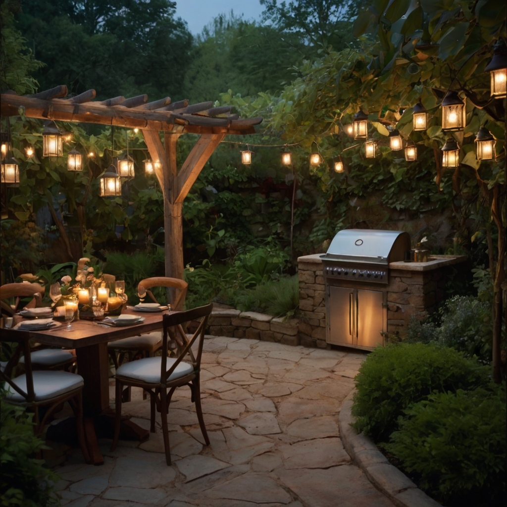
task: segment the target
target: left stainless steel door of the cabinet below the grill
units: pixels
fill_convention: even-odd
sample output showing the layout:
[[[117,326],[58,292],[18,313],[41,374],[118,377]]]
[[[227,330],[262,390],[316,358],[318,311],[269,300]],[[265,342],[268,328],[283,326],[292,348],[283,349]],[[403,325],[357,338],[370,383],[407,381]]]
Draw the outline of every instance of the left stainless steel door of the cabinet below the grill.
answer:
[[[353,344],[353,289],[328,287],[328,322],[330,343]]]

